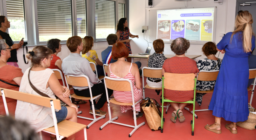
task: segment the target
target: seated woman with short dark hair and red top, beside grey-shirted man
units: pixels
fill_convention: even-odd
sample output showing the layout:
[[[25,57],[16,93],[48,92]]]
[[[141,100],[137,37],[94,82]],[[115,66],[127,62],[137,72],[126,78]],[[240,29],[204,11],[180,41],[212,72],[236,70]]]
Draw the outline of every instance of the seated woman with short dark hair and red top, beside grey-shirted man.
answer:
[[[60,39],[50,39],[50,40],[47,41],[47,47],[52,50],[51,65],[47,68],[61,70],[62,76],[64,78],[64,73],[62,72],[62,68],[61,68],[62,61],[61,61],[61,58],[59,58],[57,56],[57,54],[59,52],[61,52],[61,40]],[[60,82],[61,86],[63,86],[62,80],[59,79],[58,81]],[[65,78],[64,78],[64,83],[66,84]],[[79,99],[75,99],[74,102],[75,102],[75,104],[79,104],[79,103],[80,104],[85,104],[85,103],[87,103],[87,101],[83,101],[83,100],[79,100]]]

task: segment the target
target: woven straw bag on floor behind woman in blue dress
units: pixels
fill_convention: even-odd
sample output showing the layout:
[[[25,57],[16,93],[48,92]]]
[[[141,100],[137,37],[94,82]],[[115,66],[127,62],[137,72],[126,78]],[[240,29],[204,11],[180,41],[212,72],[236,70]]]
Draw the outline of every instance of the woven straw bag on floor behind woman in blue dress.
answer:
[[[239,121],[236,123],[236,125],[244,129],[254,130],[256,129],[256,114],[254,114],[256,113],[256,109],[253,109],[253,106],[251,104],[249,105],[250,105],[250,108],[249,108],[248,120],[245,120],[244,122]]]

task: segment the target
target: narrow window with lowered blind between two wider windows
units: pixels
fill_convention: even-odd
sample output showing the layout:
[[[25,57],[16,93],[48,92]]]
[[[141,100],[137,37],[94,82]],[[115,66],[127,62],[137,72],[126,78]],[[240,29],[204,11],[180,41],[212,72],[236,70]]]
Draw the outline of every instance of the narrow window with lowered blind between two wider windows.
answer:
[[[77,35],[86,36],[86,4],[85,0],[76,0]]]

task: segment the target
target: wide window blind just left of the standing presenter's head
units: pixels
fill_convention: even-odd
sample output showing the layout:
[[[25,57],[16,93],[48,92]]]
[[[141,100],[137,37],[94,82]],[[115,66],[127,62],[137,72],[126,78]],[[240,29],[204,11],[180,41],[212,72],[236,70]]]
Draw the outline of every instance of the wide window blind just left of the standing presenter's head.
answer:
[[[95,0],[96,28],[115,28],[115,2]]]

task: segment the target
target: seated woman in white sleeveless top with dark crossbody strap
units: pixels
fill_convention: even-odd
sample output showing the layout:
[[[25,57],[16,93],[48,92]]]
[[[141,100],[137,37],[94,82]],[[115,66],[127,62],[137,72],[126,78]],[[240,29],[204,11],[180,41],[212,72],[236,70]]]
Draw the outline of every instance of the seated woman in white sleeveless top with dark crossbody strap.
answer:
[[[55,95],[68,106],[61,106],[61,110],[55,110],[58,123],[62,120],[77,122],[78,108],[69,99],[70,90],[61,86],[54,72],[47,67],[51,64],[52,50],[44,46],[36,46],[26,57],[31,60],[32,67],[24,73],[20,92],[33,95],[40,95],[29,84],[30,82],[36,89],[55,99]],[[29,76],[29,77],[28,77]],[[48,107],[30,104],[24,101],[17,101],[15,119],[26,120],[36,132],[54,126],[52,111]],[[52,138],[54,140],[54,138]],[[68,137],[68,140],[75,140],[75,135]]]

